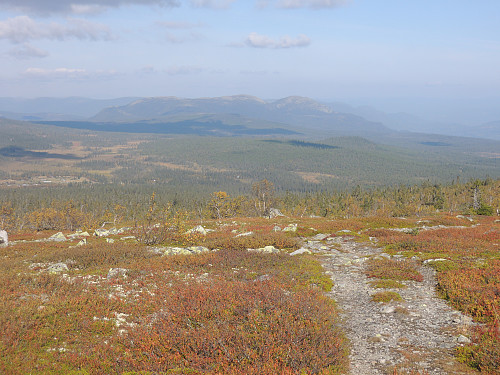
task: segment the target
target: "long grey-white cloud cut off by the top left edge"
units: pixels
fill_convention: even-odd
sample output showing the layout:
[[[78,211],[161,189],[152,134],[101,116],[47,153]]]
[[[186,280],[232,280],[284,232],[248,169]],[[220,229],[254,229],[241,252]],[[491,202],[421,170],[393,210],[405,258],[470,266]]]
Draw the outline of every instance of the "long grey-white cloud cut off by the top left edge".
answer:
[[[1,0],[0,9],[12,9],[29,14],[89,14],[122,5],[180,6],[178,0]]]

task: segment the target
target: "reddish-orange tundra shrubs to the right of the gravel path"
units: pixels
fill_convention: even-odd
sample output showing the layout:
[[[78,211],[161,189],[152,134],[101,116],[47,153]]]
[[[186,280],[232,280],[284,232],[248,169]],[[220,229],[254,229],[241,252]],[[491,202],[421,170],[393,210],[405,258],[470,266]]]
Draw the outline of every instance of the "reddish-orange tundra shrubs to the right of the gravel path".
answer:
[[[437,271],[439,295],[481,323],[470,328],[472,342],[457,349],[458,359],[481,372],[499,373],[498,220],[476,216],[474,222],[468,225],[462,222],[455,227],[421,230],[418,233],[378,229],[369,231],[369,234],[376,235],[392,254],[428,260],[428,264]]]

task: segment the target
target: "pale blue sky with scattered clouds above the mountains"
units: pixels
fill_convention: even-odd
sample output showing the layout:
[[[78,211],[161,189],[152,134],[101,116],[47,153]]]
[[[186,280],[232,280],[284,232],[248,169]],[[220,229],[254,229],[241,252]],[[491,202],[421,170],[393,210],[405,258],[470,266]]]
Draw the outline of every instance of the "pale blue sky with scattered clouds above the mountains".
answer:
[[[499,15],[498,0],[0,0],[0,97],[300,95],[500,120]]]

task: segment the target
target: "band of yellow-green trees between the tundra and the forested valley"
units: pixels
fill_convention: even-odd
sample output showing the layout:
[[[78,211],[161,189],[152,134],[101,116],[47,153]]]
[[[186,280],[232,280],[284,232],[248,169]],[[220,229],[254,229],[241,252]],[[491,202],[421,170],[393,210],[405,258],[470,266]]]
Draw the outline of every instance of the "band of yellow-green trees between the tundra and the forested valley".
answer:
[[[351,218],[425,216],[437,212],[497,215],[500,180],[455,181],[350,191],[283,192],[269,180],[251,191],[173,190],[165,185],[77,184],[52,188],[0,190],[0,226],[7,230],[74,230],[105,223],[137,225],[148,214],[151,196],[168,215],[179,212],[195,221],[236,216],[266,216],[271,209],[287,216]]]

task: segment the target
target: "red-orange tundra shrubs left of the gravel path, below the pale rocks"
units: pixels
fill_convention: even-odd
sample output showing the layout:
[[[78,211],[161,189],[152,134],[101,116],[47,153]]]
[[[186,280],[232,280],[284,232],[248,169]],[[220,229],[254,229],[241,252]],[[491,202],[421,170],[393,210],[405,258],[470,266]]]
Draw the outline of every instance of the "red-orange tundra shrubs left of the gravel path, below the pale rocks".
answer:
[[[97,238],[0,248],[0,373],[344,372],[348,346],[316,259],[219,241],[173,256]],[[67,269],[51,271],[58,263]]]

